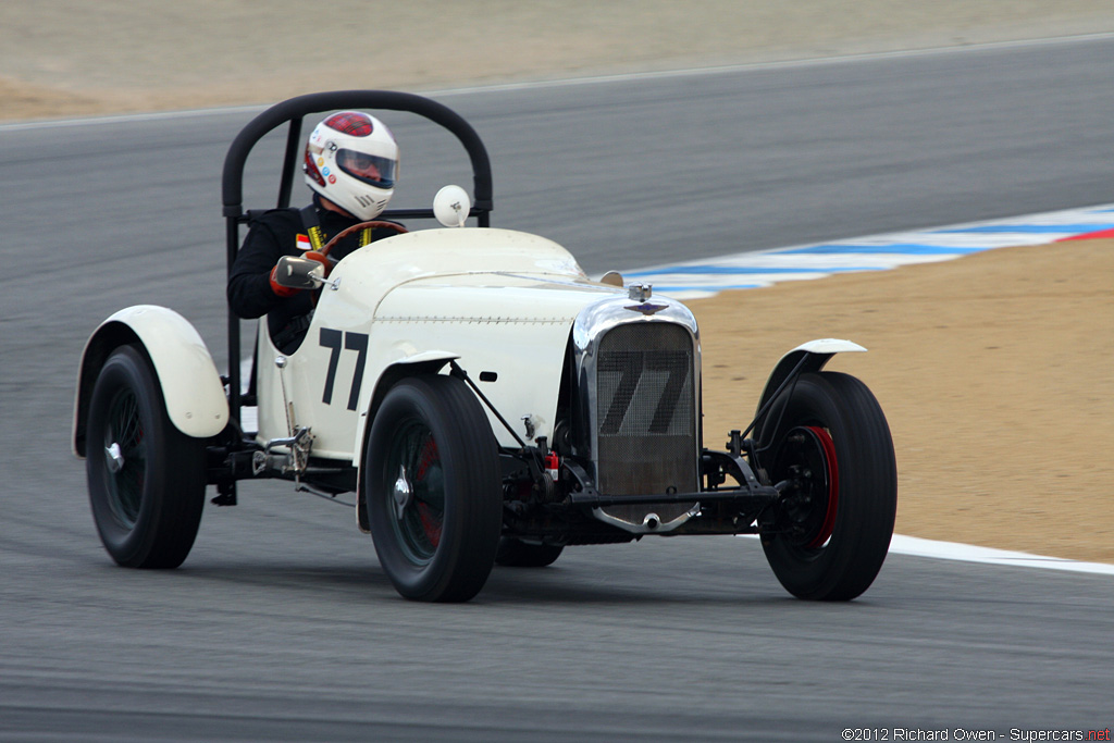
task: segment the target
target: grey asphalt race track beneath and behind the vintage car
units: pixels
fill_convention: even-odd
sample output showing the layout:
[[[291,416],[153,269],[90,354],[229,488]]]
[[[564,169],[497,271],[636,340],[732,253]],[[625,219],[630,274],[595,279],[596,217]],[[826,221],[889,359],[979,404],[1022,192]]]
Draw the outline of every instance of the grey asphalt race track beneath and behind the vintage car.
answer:
[[[494,224],[598,273],[1112,202],[1111,79],[1104,38],[439,97],[488,141]],[[893,555],[864,597],[821,605],[789,598],[752,539],[651,538],[429,606],[398,598],[350,508],[283,483],[208,507],[176,571],[113,566],[69,453],[78,358],[100,320],[157,303],[226,363],[219,173],[253,114],[0,126],[0,740],[1114,722],[1108,576]],[[428,128],[393,128],[398,205],[468,185],[422,167],[427,144],[452,154]]]

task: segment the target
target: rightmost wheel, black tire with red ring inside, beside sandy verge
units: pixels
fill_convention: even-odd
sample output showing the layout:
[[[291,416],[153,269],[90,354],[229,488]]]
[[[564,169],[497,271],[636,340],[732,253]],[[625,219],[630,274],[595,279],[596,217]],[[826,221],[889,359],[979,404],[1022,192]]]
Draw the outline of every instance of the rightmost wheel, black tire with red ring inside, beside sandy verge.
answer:
[[[867,385],[848,374],[802,374],[774,404],[759,461],[789,482],[762,548],[782,586],[799,598],[849,600],[873,583],[897,514],[897,463],[886,417]]]

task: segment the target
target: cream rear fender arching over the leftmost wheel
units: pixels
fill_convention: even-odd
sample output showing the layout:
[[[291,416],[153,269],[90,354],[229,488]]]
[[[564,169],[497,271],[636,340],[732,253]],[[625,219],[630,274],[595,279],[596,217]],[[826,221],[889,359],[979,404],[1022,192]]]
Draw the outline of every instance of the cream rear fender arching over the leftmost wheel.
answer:
[[[105,320],[81,352],[74,401],[75,454],[85,457],[89,400],[100,368],[114,350],[128,343],[139,343],[150,358],[167,416],[179,431],[206,439],[224,430],[228,399],[202,336],[177,312],[143,304]]]

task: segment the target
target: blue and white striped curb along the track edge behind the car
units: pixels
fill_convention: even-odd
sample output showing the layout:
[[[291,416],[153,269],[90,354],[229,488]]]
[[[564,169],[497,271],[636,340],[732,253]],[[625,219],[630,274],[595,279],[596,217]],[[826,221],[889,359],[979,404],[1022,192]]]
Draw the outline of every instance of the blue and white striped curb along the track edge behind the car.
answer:
[[[654,291],[676,299],[701,299],[785,281],[950,261],[996,247],[1042,245],[1106,229],[1114,229],[1114,204],[739,253],[639,268],[624,272],[623,277],[653,284]]]

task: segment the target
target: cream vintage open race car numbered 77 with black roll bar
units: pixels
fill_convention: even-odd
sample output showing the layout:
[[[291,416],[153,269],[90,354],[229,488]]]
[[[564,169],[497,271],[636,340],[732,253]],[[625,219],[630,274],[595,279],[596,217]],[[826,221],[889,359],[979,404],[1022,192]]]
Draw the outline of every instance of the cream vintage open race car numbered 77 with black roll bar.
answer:
[[[897,506],[886,418],[859,380],[823,371],[849,341],[818,340],[774,368],[754,419],[704,446],[693,314],[651,286],[590,280],[560,245],[490,226],[491,170],[471,126],[409,94],[293,98],[232,144],[223,193],[228,265],[253,212],[244,166],[287,127],[278,207],[290,204],[303,118],[408,111],[463,146],[472,194],[383,214],[399,234],[338,262],[284,258],[313,287],[305,340],[280,352],[260,322],[244,387],[240,321],[228,372],[173,310],[133,306],[81,358],[74,449],[109,555],[173,568],[193,546],[206,487],[240,480],[354,492],[385,575],[407,598],[468,600],[495,564],[541,567],[565,547],[647,535],[754,534],[793,595],[850,599],[877,576]],[[408,232],[439,219],[443,227]],[[254,414],[248,414],[254,413]]]

